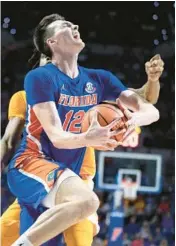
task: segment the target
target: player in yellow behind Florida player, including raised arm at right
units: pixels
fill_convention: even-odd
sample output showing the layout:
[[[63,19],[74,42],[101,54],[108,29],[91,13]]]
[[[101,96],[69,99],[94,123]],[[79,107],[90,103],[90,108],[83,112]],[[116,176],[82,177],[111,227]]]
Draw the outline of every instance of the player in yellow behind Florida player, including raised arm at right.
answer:
[[[41,59],[40,66],[45,65],[47,63],[46,59]],[[148,76],[153,74],[153,70],[148,71],[148,68],[156,67],[160,70],[160,67],[163,66],[163,62],[160,56],[154,56],[150,59],[149,62],[146,63],[146,71]],[[149,80],[142,88],[140,89],[130,89],[139,93],[144,99],[151,103],[156,103],[159,96],[159,77],[161,73],[154,73],[154,80],[151,82]],[[151,100],[151,101],[150,101]],[[19,91],[15,93],[9,104],[9,112],[8,118],[9,123],[6,128],[5,134],[1,140],[1,163],[7,163],[7,160],[12,157],[13,151],[16,148],[18,143],[18,139],[22,134],[22,129],[24,127],[25,115],[26,115],[26,94],[25,91]],[[89,148],[87,151],[87,164],[95,169],[95,157],[93,150]],[[84,161],[86,158],[84,159]],[[85,178],[86,170],[84,174],[81,174],[81,178]],[[95,173],[95,170],[91,175]],[[90,173],[87,173],[90,176]],[[86,180],[85,180],[86,181]],[[2,236],[2,246],[10,246],[18,237],[19,237],[19,220],[20,220],[20,206],[17,200],[6,210],[6,212],[1,217],[1,236]],[[72,226],[65,233],[64,236],[66,238],[66,242],[68,246],[76,246],[80,245],[80,242],[83,242],[85,245],[90,245],[92,242],[92,235],[95,234],[96,231],[94,229],[94,233],[92,233],[93,228],[95,227],[90,221],[85,220],[82,221],[81,224]],[[79,226],[79,227],[78,227]],[[77,229],[78,227],[78,229]],[[81,228],[81,230],[80,230]],[[89,229],[90,228],[90,229]],[[91,229],[92,228],[92,229]],[[84,231],[84,234],[82,233]],[[84,235],[84,237],[82,236]],[[68,235],[68,237],[67,237]],[[73,239],[74,238],[74,239]],[[70,239],[70,240],[69,240]],[[84,242],[85,241],[85,242]],[[75,244],[74,244],[75,243]]]

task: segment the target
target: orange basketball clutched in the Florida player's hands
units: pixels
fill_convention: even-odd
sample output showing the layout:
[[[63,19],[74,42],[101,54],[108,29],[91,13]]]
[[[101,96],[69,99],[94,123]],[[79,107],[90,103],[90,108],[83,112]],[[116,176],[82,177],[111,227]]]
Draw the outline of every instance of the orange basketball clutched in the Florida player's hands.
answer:
[[[99,104],[93,108],[91,108],[84,116],[81,124],[81,131],[86,132],[91,124],[91,118],[94,113],[94,111],[97,112],[97,120],[101,126],[107,126],[112,121],[114,121],[117,118],[121,118],[120,121],[117,123],[115,127],[113,127],[112,130],[122,130],[126,128],[126,125],[124,123],[127,122],[127,118],[124,116],[122,110],[116,105],[114,102],[111,103],[102,103]],[[124,133],[119,134],[117,136],[112,137],[116,141],[120,142],[122,141]],[[94,147],[97,150],[103,150],[103,148]]]

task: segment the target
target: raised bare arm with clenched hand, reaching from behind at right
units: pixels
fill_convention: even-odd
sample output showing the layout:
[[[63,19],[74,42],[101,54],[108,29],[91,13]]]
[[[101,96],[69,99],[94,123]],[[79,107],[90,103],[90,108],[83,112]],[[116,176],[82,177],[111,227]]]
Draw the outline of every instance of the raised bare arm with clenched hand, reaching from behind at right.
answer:
[[[159,78],[164,69],[164,62],[160,55],[155,55],[149,62],[145,63],[145,70],[148,76],[147,83],[139,89],[130,88],[139,96],[152,104],[156,104],[159,98],[160,82]]]

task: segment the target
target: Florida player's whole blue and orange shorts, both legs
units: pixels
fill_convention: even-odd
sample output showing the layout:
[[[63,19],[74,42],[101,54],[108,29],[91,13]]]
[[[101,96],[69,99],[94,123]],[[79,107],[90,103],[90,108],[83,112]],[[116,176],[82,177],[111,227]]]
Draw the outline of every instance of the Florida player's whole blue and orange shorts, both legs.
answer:
[[[12,160],[17,162],[18,160]],[[63,168],[55,162],[41,158],[30,158],[18,168],[7,173],[11,192],[18,198],[21,207],[20,234],[22,235],[37,218],[46,211],[41,205],[42,200],[52,189]],[[44,243],[45,246],[63,246],[62,234]]]

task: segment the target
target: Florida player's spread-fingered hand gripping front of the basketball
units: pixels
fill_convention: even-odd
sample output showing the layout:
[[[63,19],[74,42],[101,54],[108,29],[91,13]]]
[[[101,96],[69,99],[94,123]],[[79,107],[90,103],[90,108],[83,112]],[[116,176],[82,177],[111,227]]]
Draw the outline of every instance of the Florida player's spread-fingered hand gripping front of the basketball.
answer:
[[[118,123],[120,123],[120,117],[115,119],[109,125],[102,127],[97,120],[97,112],[94,111],[90,127],[86,132],[85,139],[87,146],[103,147],[105,150],[114,150],[119,143],[111,137],[125,133],[126,131],[126,129],[112,130],[113,127],[118,126]]]

